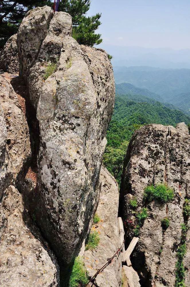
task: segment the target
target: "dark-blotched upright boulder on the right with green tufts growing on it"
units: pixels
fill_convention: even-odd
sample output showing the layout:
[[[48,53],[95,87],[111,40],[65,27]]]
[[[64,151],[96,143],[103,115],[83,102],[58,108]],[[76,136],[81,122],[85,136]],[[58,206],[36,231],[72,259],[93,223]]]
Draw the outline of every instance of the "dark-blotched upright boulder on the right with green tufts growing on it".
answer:
[[[135,214],[145,206],[148,210],[131,258],[132,266],[140,275],[141,286],[175,286],[177,248],[181,244],[181,224],[186,223],[183,204],[185,198],[189,198],[189,182],[190,135],[184,123],[176,128],[147,125],[134,133],[124,160],[120,211],[125,220],[133,220],[136,225]],[[153,202],[145,205],[144,189],[159,183],[173,189],[173,201],[161,206]],[[138,202],[135,212],[130,204],[134,197]],[[165,217],[170,220],[166,230],[161,226]],[[187,258],[188,254],[189,250]],[[189,263],[184,262],[184,265],[189,268]]]

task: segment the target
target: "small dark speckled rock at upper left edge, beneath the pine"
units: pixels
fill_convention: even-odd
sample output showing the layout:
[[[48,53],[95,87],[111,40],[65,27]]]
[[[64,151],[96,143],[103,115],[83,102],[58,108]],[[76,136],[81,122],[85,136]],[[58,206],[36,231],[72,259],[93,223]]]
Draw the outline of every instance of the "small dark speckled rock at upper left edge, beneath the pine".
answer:
[[[11,74],[19,72],[17,34],[7,40],[1,51],[0,69]]]

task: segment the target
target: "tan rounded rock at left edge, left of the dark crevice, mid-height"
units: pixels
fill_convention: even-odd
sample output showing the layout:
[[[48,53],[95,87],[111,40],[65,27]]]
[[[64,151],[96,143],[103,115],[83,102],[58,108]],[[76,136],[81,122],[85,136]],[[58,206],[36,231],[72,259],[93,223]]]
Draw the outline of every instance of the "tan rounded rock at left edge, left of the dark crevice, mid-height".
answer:
[[[25,176],[30,163],[29,129],[13,87],[2,76],[0,88],[0,104],[6,122],[6,146],[11,158],[11,172],[17,183]]]

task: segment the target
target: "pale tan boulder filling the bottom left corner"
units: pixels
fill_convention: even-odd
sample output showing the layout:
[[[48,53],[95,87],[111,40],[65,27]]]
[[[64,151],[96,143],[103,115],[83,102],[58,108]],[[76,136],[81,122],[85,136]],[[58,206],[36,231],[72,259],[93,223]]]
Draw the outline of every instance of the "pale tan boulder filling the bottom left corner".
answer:
[[[0,286],[59,286],[56,258],[11,185],[0,201]]]

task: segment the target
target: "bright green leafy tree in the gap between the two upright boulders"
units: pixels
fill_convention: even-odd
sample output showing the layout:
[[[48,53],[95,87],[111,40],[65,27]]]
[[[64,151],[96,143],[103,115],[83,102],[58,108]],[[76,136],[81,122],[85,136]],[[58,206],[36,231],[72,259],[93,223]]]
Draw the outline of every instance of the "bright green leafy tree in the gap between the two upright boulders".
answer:
[[[107,146],[103,155],[103,164],[120,184],[123,171],[123,161],[129,142],[123,141],[118,148]]]

